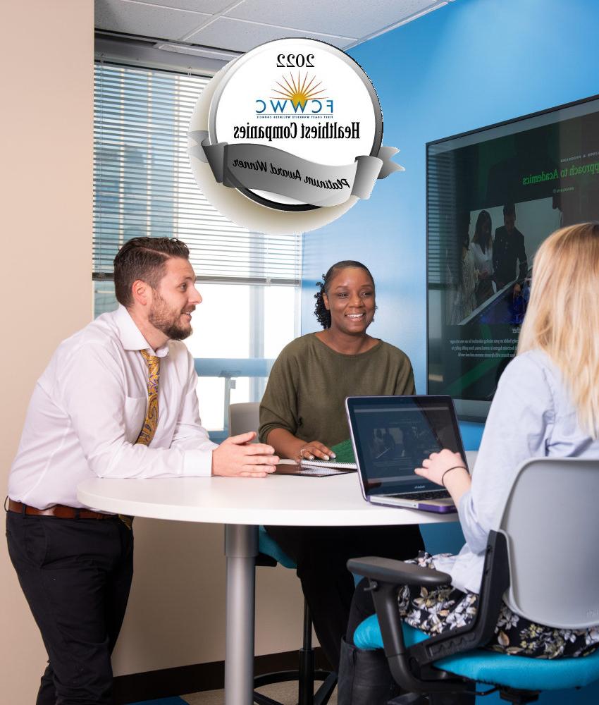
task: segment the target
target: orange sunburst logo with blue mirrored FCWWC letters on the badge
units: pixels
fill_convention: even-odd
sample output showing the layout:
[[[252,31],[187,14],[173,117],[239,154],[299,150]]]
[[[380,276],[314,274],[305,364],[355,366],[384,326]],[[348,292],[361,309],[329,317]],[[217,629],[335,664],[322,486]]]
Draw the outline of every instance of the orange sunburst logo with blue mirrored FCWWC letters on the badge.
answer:
[[[298,113],[332,115],[333,99],[323,95],[326,90],[321,85],[322,81],[317,80],[316,75],[310,78],[308,72],[303,78],[300,71],[297,72],[297,78],[292,73],[282,76],[272,89],[276,95],[267,100],[257,99],[256,112],[264,116]]]

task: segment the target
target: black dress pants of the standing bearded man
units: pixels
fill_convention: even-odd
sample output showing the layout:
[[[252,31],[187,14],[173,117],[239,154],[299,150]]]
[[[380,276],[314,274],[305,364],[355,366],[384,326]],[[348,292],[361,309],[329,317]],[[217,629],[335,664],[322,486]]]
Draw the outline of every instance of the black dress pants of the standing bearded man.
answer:
[[[8,512],[6,538],[48,652],[37,705],[111,704],[111,653],[133,575],[132,532],[116,517]]]

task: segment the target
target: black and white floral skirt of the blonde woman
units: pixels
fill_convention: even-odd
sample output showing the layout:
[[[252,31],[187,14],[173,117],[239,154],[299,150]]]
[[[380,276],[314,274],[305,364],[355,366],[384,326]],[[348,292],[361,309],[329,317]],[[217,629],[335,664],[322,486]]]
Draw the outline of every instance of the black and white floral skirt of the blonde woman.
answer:
[[[433,561],[430,553],[421,551],[418,558],[406,563],[435,568]],[[451,585],[432,590],[406,585],[400,590],[397,602],[407,624],[431,635],[469,625],[478,609],[478,595],[464,593]],[[495,627],[495,636],[486,648],[534,658],[557,658],[588,656],[597,646],[599,627],[581,630],[545,627],[514,614],[504,604]]]

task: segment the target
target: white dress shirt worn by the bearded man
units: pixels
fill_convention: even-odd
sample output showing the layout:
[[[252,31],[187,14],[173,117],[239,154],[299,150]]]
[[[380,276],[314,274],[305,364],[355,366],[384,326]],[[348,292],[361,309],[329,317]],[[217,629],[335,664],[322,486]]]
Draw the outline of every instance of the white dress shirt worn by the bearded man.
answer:
[[[136,444],[148,404],[140,350],[160,360],[158,426]],[[185,345],[149,347],[119,306],[63,341],[35,385],[8,479],[8,496],[38,509],[82,507],[89,477],[209,476],[212,450],[199,419],[197,375]]]

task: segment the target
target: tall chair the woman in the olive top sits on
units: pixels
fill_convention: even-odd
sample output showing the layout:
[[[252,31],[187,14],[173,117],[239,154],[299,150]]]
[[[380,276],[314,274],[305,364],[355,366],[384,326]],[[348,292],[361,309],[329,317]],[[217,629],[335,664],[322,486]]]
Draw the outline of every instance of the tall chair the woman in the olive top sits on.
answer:
[[[229,407],[229,430],[232,436],[257,431],[259,427],[260,405],[257,402],[231,404]],[[258,540],[259,555],[256,565],[274,567],[277,563],[284,568],[296,566],[293,560],[281,551],[280,546],[274,541],[264,527],[259,529]],[[312,620],[307,602],[304,600],[304,637],[302,648],[298,652],[297,670],[277,671],[257,675],[254,678],[254,702],[258,705],[281,705],[278,701],[257,692],[255,689],[274,683],[283,683],[297,680],[299,705],[326,705],[337,685],[337,674],[326,670],[317,670],[314,666],[314,649],[312,648]],[[314,692],[314,682],[322,681],[322,685]]]

